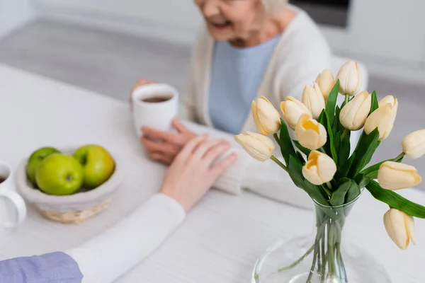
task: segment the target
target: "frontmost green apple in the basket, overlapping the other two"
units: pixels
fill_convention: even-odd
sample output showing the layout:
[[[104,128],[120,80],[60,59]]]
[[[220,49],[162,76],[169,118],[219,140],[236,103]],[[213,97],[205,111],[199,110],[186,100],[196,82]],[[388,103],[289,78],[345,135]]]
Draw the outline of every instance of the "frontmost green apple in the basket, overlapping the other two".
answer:
[[[50,154],[40,162],[35,180],[48,195],[72,195],[83,183],[83,168],[72,156]]]

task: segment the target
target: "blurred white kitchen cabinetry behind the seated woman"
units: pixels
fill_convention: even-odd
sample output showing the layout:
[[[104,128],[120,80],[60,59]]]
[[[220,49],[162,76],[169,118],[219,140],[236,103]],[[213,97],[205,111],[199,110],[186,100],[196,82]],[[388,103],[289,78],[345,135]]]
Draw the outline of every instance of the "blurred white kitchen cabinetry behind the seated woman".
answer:
[[[202,23],[193,0],[33,1],[42,15],[62,21],[185,43],[192,42]],[[370,73],[423,82],[423,11],[425,1],[419,0],[351,0],[349,27],[322,31],[336,54],[364,62]]]

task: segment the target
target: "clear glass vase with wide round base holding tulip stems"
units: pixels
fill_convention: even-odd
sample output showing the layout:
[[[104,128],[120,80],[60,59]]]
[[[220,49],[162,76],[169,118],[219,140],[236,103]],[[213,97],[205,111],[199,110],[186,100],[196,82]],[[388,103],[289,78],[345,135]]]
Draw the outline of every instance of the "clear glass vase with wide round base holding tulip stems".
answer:
[[[257,260],[252,283],[387,283],[385,269],[354,243],[346,243],[351,209],[315,203],[310,236],[279,241]],[[349,232],[347,233],[349,235]]]

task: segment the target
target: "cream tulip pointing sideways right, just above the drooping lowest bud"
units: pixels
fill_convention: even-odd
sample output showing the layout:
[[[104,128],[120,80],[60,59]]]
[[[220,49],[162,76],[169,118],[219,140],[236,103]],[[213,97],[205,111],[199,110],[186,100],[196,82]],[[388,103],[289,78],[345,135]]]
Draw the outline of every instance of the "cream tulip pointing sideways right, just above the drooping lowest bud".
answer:
[[[385,161],[378,170],[378,182],[387,190],[399,190],[421,183],[421,176],[413,166]]]

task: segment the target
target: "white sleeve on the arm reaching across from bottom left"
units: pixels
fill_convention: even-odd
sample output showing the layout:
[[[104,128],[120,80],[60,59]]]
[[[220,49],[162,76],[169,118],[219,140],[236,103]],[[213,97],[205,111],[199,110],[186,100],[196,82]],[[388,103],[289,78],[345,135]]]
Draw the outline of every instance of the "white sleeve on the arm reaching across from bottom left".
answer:
[[[185,216],[178,202],[156,194],[115,226],[66,253],[78,263],[82,283],[113,282],[157,249]]]

